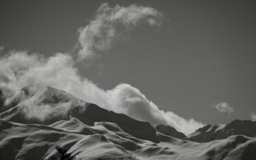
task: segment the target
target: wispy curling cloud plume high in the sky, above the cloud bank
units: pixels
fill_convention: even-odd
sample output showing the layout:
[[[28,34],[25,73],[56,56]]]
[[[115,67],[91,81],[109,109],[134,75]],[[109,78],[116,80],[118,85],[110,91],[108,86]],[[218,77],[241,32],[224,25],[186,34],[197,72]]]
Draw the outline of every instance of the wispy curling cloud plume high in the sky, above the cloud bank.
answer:
[[[162,14],[152,7],[109,7],[103,3],[94,19],[79,29],[79,59],[93,57],[97,50],[109,50],[122,37],[124,29],[130,31],[141,23],[160,25],[162,18]]]

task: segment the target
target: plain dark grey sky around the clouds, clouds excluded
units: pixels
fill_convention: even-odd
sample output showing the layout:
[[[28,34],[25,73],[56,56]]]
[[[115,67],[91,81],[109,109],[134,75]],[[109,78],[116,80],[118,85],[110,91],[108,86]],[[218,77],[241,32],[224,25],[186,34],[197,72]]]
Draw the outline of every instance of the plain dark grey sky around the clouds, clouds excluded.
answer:
[[[137,87],[158,108],[203,123],[251,119],[256,103],[255,1],[0,1],[0,46],[51,56],[70,52],[101,3],[164,14],[140,26],[80,73],[102,89]],[[231,114],[211,107],[226,102]]]

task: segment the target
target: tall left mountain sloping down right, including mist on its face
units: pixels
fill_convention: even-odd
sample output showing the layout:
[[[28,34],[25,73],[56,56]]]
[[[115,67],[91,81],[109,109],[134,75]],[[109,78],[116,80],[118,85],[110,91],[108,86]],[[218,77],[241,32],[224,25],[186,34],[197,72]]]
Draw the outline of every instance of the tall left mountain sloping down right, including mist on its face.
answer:
[[[16,96],[22,97],[19,99],[19,103],[9,110],[1,112],[0,118],[16,123],[50,125],[74,116],[90,126],[96,122],[115,123],[136,138],[158,142],[156,130],[150,123],[136,121],[124,114],[105,110],[96,104],[86,103],[73,95],[49,86],[40,86],[40,91],[35,91],[35,87],[28,86],[22,89],[18,93],[20,95]]]

